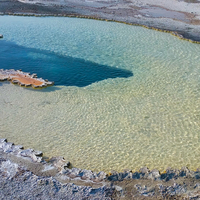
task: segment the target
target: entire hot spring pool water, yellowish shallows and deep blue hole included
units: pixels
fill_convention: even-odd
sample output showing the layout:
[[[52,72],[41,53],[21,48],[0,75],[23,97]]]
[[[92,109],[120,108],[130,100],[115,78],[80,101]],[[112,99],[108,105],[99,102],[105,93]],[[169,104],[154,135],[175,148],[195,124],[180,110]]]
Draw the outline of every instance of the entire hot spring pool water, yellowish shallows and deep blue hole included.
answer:
[[[0,83],[0,137],[95,171],[200,166],[200,45],[72,18],[1,16],[0,34],[0,68],[55,81]]]

